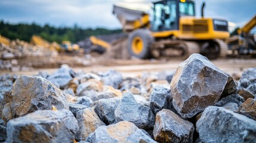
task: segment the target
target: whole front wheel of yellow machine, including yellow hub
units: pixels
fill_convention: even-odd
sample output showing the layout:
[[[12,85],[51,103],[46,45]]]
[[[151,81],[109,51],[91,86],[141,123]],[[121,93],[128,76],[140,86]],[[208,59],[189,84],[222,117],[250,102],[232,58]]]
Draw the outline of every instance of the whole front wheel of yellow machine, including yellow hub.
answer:
[[[138,29],[129,34],[128,51],[132,57],[149,58],[150,45],[154,41],[149,30]]]

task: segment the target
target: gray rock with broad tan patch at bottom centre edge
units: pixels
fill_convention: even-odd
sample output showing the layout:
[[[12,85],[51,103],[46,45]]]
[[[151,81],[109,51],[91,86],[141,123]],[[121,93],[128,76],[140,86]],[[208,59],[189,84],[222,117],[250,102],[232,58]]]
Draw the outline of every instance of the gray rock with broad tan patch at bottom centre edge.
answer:
[[[100,126],[86,139],[87,142],[155,142],[131,122],[122,121],[109,126]]]

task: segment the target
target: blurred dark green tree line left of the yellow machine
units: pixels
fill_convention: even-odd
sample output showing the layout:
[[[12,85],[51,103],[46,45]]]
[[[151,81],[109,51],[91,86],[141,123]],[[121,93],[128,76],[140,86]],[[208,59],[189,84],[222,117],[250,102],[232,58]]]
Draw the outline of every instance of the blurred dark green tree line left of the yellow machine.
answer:
[[[22,41],[30,41],[32,35],[38,35],[49,42],[71,41],[76,43],[82,41],[91,35],[110,35],[112,33],[121,33],[121,29],[84,29],[76,24],[73,27],[54,27],[49,24],[40,26],[39,24],[11,24],[0,21],[0,34],[11,40],[20,39]]]

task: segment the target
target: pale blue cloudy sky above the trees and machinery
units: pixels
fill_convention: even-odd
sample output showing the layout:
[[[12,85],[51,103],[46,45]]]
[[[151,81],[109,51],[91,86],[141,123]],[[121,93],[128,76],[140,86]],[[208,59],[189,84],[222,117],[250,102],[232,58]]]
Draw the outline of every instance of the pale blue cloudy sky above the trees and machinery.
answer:
[[[126,0],[135,1],[135,0]],[[137,0],[138,1],[138,0]],[[201,3],[195,0],[196,15],[201,15]],[[0,20],[11,23],[45,23],[52,26],[119,28],[112,14],[118,0],[0,0]],[[256,14],[256,0],[206,0],[206,17],[226,18],[242,26]]]

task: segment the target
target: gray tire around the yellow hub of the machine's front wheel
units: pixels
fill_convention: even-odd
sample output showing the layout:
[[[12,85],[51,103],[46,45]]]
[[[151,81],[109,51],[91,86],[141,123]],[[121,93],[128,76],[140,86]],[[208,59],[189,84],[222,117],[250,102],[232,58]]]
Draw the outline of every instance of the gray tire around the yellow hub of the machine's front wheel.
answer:
[[[135,52],[132,48],[132,44],[135,38],[140,38],[143,41],[143,49],[139,50],[140,52]],[[128,52],[131,57],[137,58],[150,58],[150,45],[153,43],[154,38],[151,36],[151,33],[147,29],[138,29],[132,33],[129,33],[128,38]]]

